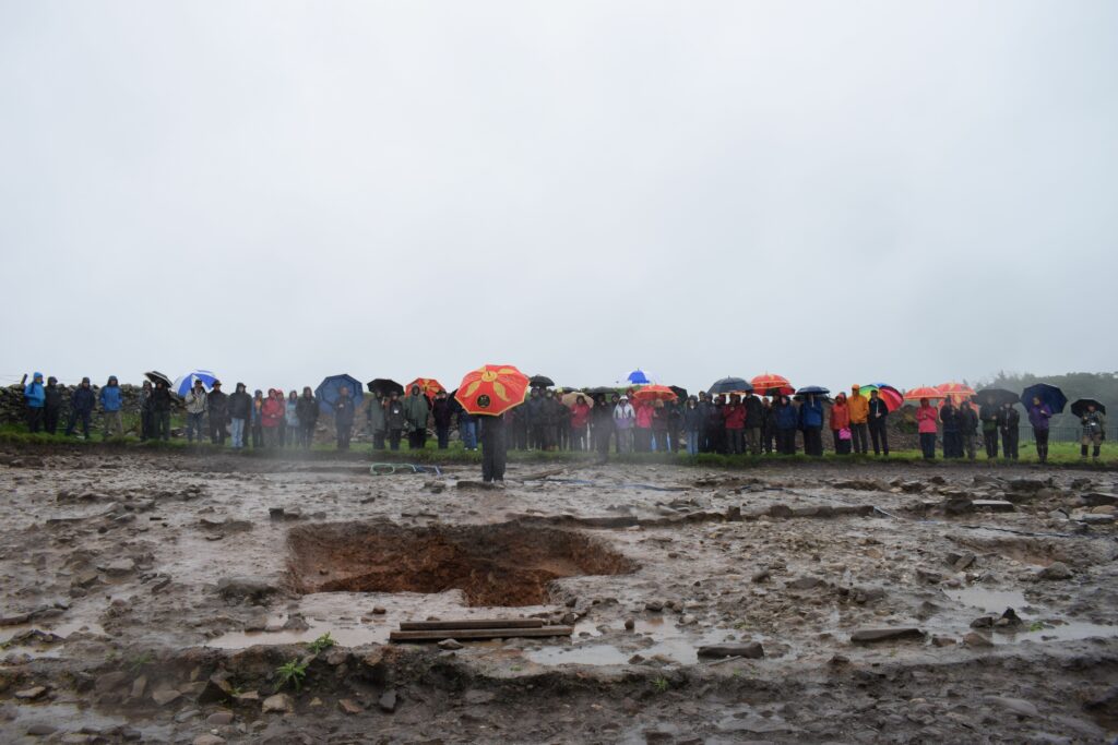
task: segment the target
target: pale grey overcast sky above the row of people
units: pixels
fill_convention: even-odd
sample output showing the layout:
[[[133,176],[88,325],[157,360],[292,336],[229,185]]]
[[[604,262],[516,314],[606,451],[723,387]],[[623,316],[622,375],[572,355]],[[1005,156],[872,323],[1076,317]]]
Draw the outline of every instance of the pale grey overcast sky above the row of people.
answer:
[[[0,0],[0,382],[1118,370],[1118,3]]]

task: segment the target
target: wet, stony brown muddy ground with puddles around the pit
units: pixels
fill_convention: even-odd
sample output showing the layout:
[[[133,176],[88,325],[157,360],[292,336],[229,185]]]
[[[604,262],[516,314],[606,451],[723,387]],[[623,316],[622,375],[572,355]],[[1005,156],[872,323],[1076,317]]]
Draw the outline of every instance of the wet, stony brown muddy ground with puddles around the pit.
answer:
[[[9,452],[0,738],[1112,742],[1116,477]]]

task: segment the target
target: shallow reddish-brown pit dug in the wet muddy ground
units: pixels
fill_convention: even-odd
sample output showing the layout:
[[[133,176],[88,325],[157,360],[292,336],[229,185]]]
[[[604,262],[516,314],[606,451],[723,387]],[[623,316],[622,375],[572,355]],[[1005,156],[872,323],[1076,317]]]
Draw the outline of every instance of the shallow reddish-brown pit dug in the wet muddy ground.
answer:
[[[471,605],[539,605],[552,580],[636,569],[581,533],[517,523],[302,525],[288,545],[292,584],[304,594],[457,589]]]

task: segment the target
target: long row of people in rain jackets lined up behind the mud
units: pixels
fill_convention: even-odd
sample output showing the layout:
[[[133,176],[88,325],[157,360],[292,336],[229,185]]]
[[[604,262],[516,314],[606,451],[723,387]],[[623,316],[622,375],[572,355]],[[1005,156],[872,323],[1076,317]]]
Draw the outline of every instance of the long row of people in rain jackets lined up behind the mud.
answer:
[[[55,378],[44,383],[35,373],[23,391],[30,431],[51,434],[58,430],[63,394]],[[172,393],[168,384],[143,383],[140,392],[140,439],[170,439]],[[302,393],[269,389],[249,395],[244,383],[233,393],[222,391],[221,381],[206,390],[196,380],[183,399],[186,437],[189,442],[209,439],[215,445],[231,441],[234,449],[310,448],[319,422],[322,402],[310,386]],[[94,411],[100,404],[105,438],[124,433],[123,397],[115,376],[94,394],[88,378],[74,389],[65,433],[73,436],[78,426],[89,437]],[[825,405],[827,404],[827,405]],[[1052,410],[1040,399],[1024,402],[1029,423],[1041,462],[1048,460]],[[332,413],[338,448],[350,447],[353,436],[356,399],[342,386],[326,404]],[[731,393],[709,395],[700,392],[685,400],[642,397],[628,389],[612,394],[572,392],[561,395],[551,389],[533,388],[523,404],[501,418],[502,446],[515,450],[595,450],[603,458],[610,451],[624,452],[703,452],[723,455],[795,455],[798,441],[808,456],[822,456],[824,429],[830,429],[832,447],[839,455],[865,453],[889,456],[888,421],[890,409],[872,390],[862,395],[858,385],[850,395],[839,393],[833,401],[822,395],[770,395]],[[429,428],[437,447],[449,447],[456,427],[463,447],[476,450],[489,417],[472,416],[457,401],[439,390],[428,395],[413,385],[402,395],[372,392],[366,404],[366,420],[373,449],[399,450],[406,439],[409,449],[427,445]],[[977,457],[979,445],[986,457],[1018,457],[1021,416],[1011,402],[993,399],[956,402],[947,398],[941,405],[921,399],[916,410],[916,426],[925,458],[936,457],[937,440],[944,458]],[[1081,456],[1098,459],[1106,432],[1103,413],[1089,405],[1080,416]],[[797,440],[798,434],[798,440]]]

